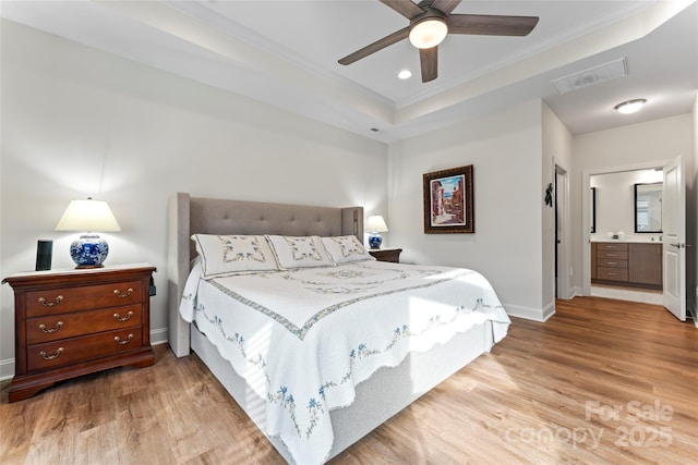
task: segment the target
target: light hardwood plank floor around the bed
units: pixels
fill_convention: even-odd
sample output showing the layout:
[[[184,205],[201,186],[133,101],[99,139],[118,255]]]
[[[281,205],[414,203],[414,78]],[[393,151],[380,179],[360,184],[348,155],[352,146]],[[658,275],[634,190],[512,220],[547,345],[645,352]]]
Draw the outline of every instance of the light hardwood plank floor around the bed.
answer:
[[[0,397],[2,464],[279,464],[195,356]],[[659,306],[576,297],[514,318],[491,353],[333,464],[685,464],[698,458],[698,330]]]

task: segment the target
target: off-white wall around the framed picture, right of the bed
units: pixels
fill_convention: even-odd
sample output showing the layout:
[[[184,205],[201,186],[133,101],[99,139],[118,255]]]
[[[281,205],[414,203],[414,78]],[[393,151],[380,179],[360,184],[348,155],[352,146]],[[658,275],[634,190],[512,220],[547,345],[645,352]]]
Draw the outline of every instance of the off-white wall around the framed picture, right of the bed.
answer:
[[[401,261],[474,269],[506,310],[543,318],[541,102],[530,101],[389,147],[390,244]],[[474,234],[424,234],[424,173],[473,166]]]

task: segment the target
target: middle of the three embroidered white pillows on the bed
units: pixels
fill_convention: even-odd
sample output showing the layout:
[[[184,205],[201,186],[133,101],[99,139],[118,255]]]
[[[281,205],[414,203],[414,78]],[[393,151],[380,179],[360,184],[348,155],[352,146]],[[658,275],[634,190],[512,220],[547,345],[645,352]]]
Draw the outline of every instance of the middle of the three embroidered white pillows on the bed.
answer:
[[[334,266],[332,257],[318,235],[267,235],[281,268],[312,268]]]

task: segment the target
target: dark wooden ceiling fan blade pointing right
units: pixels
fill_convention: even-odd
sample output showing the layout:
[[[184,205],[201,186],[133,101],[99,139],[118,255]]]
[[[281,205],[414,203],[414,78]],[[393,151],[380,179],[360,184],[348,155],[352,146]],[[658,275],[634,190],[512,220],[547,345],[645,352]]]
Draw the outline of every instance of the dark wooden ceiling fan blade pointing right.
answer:
[[[526,36],[538,24],[538,16],[497,16],[488,14],[452,14],[449,34],[485,36]]]

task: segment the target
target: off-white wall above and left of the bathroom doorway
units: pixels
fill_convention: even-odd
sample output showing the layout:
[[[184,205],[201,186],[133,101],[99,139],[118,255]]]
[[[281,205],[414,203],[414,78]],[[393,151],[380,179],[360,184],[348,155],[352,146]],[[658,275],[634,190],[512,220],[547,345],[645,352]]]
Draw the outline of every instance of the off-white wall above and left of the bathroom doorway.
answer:
[[[693,156],[693,117],[681,114],[671,118],[631,124],[617,129],[581,134],[574,137],[571,204],[573,204],[573,267],[579,271],[589,267],[589,232],[583,230],[582,216],[588,205],[582,203],[589,185],[588,175],[627,169],[663,166],[677,155],[686,159]],[[695,210],[686,221],[696,221]],[[588,270],[587,270],[588,272]],[[582,293],[582,273],[574,273],[577,294]]]

